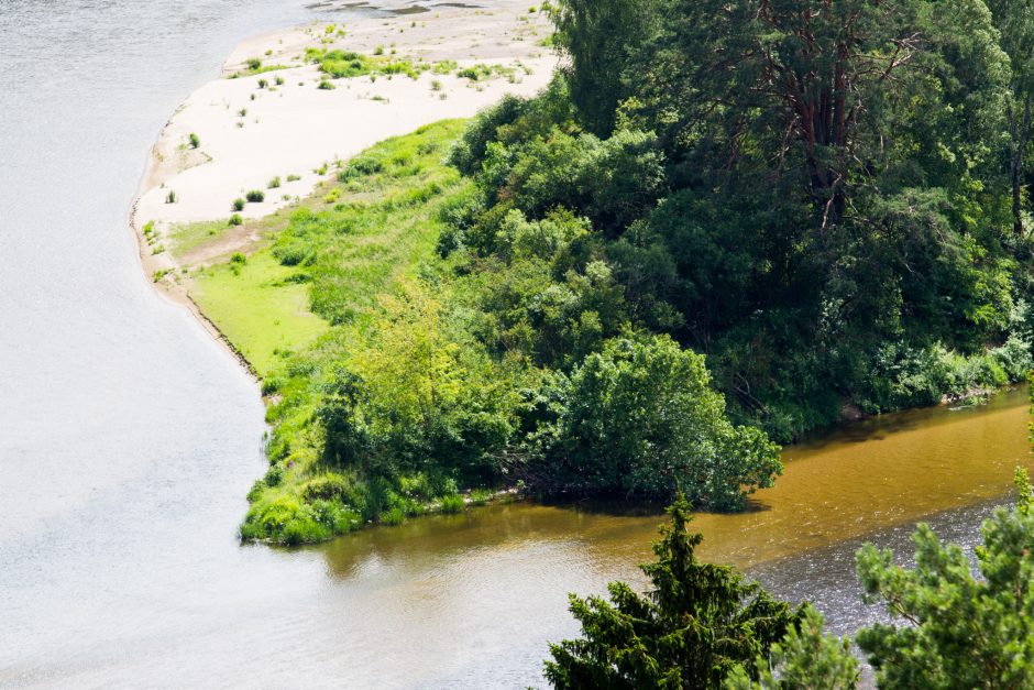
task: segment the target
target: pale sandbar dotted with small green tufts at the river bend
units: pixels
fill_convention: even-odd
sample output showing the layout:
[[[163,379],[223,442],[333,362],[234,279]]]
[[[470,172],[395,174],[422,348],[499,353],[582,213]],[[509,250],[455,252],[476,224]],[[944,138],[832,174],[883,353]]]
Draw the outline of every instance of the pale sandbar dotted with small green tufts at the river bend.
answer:
[[[262,239],[257,219],[311,195],[374,143],[471,117],[505,94],[541,89],[557,57],[544,46],[549,20],[534,10],[528,2],[503,0],[487,9],[344,13],[344,22],[315,22],[239,44],[222,74],[180,105],[151,152],[130,219],[148,278],[226,342],[190,300],[189,271],[246,251]],[[310,48],[420,69],[331,79],[306,59]],[[257,74],[254,61],[262,65]],[[462,76],[471,67],[488,74]],[[250,190],[261,190],[264,199],[234,209],[234,200]],[[177,245],[175,236],[185,227],[226,227],[234,213],[241,223],[218,239]]]

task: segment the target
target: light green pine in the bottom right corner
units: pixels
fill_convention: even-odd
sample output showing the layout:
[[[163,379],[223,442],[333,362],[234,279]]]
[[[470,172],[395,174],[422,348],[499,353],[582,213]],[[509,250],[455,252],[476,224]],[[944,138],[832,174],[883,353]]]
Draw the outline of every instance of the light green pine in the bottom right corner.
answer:
[[[894,565],[889,549],[866,545],[858,577],[870,601],[904,623],[858,633],[877,680],[890,688],[1030,688],[1034,686],[1034,511],[1025,470],[1019,499],[983,523],[977,569],[927,525],[912,535],[915,568]]]

